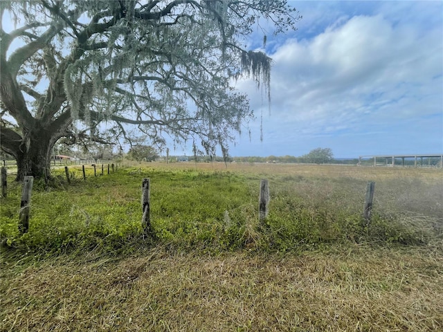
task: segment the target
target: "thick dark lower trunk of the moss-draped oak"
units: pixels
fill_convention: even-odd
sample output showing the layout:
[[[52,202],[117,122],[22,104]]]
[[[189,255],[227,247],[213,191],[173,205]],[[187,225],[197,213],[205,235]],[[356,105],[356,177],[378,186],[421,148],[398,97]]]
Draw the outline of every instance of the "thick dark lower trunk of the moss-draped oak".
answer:
[[[17,181],[23,181],[27,175],[45,178],[51,165],[53,142],[48,131],[30,131],[17,151]]]

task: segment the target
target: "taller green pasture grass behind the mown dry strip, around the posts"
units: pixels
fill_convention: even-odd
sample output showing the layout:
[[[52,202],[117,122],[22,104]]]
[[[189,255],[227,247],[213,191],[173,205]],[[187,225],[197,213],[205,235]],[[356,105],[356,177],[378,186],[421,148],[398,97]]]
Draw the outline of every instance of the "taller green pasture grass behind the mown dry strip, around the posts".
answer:
[[[378,178],[372,178],[376,194],[368,225],[361,216],[367,179],[359,176],[359,167],[314,172],[314,166],[262,165],[255,167],[259,172],[254,167],[244,172],[208,170],[204,164],[152,165],[96,178],[89,174],[86,182],[80,169],[73,168],[71,185],[55,171],[53,187],[35,183],[30,229],[23,236],[17,225],[21,186],[10,183],[8,197],[1,200],[1,237],[26,250],[114,250],[143,235],[141,182],[149,177],[156,241],[183,248],[280,252],[347,242],[417,245],[442,238],[442,187],[431,181],[441,175],[438,170],[428,172],[429,178],[401,179],[404,169],[397,170],[397,178],[386,173],[390,169],[380,169],[374,176]],[[269,178],[271,203],[269,217],[260,223],[257,201],[263,177]]]

